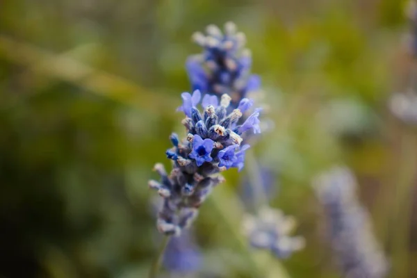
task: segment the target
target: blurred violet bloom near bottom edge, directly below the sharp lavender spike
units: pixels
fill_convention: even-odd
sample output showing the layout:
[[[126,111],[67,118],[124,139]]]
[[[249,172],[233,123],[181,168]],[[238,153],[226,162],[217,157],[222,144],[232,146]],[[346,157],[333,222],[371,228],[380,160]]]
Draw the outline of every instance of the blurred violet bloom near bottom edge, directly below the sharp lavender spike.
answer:
[[[190,230],[181,236],[171,238],[163,256],[163,265],[170,272],[188,274],[196,272],[202,266],[202,254],[195,245]]]

